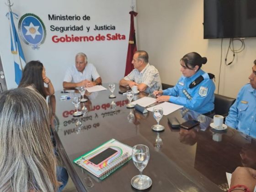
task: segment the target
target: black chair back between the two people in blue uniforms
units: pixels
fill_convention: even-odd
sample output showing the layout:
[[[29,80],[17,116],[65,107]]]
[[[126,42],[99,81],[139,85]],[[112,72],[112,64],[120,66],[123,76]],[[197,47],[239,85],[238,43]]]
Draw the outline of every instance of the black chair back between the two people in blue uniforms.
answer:
[[[228,96],[222,96],[219,94],[214,94],[214,109],[216,115],[222,115],[224,117],[228,116],[229,108],[235,102],[234,98]]]

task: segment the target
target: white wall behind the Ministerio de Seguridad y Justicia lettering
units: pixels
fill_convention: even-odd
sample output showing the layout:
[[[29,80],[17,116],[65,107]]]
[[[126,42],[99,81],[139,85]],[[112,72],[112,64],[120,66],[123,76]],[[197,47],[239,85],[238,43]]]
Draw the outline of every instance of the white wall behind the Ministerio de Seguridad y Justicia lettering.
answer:
[[[9,11],[5,5],[7,0],[0,2],[0,55],[5,71],[8,89],[16,87],[14,81],[13,55],[10,48],[10,24],[5,14]],[[46,75],[52,80],[55,90],[62,89],[62,81],[65,70],[75,64],[75,54],[84,52],[88,56],[88,62],[96,65],[103,82],[118,82],[123,78],[126,64],[128,37],[130,29],[131,0],[11,0],[14,5],[12,11],[19,15],[19,19],[26,13],[39,16],[46,27],[47,36],[45,42],[39,49],[32,50],[31,46],[25,44],[20,37],[26,61],[40,60],[45,68]],[[48,14],[56,15],[87,15],[90,21],[49,21]],[[16,29],[18,30],[16,22]],[[52,32],[50,26],[84,25],[91,28],[95,25],[114,25],[114,31],[90,32]],[[125,40],[104,42],[73,42],[53,43],[52,36],[64,36],[65,34],[75,36],[96,36],[98,33],[120,33],[126,36]]]

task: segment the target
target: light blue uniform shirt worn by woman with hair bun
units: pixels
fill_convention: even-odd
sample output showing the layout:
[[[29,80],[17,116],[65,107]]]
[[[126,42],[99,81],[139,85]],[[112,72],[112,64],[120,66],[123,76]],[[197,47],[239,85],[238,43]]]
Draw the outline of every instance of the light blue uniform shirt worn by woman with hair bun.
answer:
[[[200,75],[204,77],[204,80],[197,86],[189,88],[189,85]],[[185,93],[184,90],[186,91]],[[169,101],[172,103],[183,105],[188,109],[203,114],[214,109],[214,91],[215,85],[213,80],[209,79],[208,74],[202,69],[199,69],[191,77],[182,75],[174,87],[163,91],[163,95],[171,96]]]

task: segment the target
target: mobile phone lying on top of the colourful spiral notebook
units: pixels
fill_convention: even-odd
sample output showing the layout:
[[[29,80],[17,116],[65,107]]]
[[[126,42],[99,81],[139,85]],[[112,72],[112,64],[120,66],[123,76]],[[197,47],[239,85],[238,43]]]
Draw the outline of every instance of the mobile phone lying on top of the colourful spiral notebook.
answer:
[[[107,148],[101,153],[97,154],[96,156],[92,157],[88,161],[91,162],[93,165],[101,165],[105,160],[110,159],[112,156],[117,154],[117,150],[112,148]]]

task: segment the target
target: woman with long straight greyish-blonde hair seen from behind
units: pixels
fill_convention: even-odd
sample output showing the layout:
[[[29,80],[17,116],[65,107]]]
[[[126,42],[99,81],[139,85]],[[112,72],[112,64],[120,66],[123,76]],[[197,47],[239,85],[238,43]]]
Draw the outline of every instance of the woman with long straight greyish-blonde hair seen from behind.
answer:
[[[0,93],[0,191],[60,190],[57,176],[67,173],[56,165],[49,118],[47,104],[36,91]],[[67,176],[59,181],[66,184]]]

